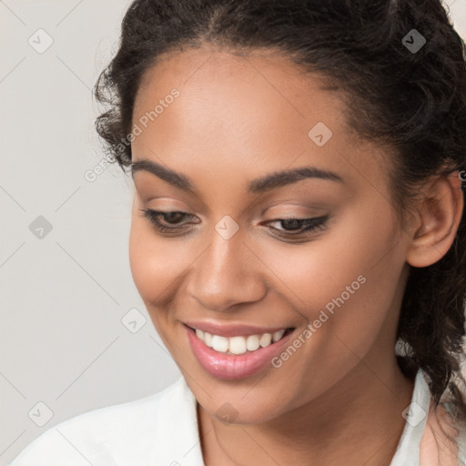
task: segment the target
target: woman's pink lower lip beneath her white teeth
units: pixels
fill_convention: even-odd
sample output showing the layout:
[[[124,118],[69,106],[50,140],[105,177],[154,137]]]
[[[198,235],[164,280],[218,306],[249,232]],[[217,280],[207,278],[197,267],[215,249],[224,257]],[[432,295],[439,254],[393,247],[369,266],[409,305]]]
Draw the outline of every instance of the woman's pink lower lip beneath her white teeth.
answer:
[[[290,331],[285,337],[266,348],[235,356],[209,348],[204,341],[198,339],[194,330],[189,328],[186,330],[187,339],[199,364],[209,374],[225,380],[243,379],[267,367],[294,333],[294,330]]]

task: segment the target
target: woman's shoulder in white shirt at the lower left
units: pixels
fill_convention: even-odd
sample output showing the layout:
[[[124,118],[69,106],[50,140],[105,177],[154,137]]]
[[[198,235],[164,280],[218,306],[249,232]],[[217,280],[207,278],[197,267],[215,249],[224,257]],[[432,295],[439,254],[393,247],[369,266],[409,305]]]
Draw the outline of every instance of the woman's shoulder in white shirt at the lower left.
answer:
[[[10,466],[157,464],[174,439],[194,444],[196,400],[183,378],[149,397],[88,411],[50,428]],[[164,458],[164,461],[165,458]]]

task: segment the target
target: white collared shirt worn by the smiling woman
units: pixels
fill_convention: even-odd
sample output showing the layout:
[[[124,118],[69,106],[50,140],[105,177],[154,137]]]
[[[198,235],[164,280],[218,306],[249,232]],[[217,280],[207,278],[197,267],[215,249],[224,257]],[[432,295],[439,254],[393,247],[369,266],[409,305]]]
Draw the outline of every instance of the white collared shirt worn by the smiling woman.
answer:
[[[419,370],[410,415],[390,466],[420,465],[424,413],[430,402],[429,387]],[[88,411],[57,424],[10,466],[204,466],[196,404],[180,378],[147,398]],[[464,463],[459,460],[459,464]]]

